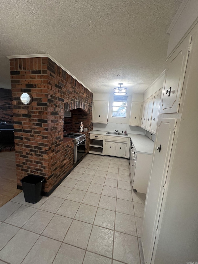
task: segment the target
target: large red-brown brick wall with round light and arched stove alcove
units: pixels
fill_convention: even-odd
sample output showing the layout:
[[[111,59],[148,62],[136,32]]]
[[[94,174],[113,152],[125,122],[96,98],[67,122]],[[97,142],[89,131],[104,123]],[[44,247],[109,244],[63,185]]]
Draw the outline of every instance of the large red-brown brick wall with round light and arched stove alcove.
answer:
[[[49,193],[74,166],[74,142],[63,143],[64,104],[86,104],[92,130],[93,94],[47,57],[10,59],[10,66],[17,184],[28,174],[41,175]],[[30,105],[20,102],[22,92],[32,94]]]

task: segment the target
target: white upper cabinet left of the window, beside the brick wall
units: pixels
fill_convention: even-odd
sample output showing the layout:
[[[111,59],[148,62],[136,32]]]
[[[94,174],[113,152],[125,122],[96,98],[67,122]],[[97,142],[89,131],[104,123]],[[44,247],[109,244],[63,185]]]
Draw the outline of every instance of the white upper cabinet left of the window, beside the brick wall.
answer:
[[[92,122],[107,124],[109,101],[93,101]]]

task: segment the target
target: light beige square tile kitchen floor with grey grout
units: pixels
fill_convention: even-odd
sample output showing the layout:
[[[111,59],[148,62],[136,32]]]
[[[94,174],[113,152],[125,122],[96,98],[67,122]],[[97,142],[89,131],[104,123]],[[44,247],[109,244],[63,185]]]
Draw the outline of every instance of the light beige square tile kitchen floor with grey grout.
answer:
[[[0,263],[144,264],[145,194],[129,177],[126,159],[88,154],[50,197],[19,193],[0,208]]]

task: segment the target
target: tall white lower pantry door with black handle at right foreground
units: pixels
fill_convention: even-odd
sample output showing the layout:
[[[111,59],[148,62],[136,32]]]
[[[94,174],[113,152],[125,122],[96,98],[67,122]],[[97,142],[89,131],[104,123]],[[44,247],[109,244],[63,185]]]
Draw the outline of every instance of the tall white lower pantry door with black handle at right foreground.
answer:
[[[166,182],[176,122],[177,119],[175,118],[159,118],[157,123],[158,131],[154,147],[153,165],[149,178],[142,228],[142,245],[144,259],[147,264],[151,263],[161,201],[164,193],[163,186]]]

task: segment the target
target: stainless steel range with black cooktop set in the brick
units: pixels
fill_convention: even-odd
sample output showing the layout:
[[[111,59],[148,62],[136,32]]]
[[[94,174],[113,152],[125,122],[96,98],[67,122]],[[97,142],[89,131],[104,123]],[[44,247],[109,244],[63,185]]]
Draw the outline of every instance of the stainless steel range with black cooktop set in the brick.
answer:
[[[66,138],[74,138],[74,163],[80,160],[85,154],[86,136],[80,133],[67,133]]]

